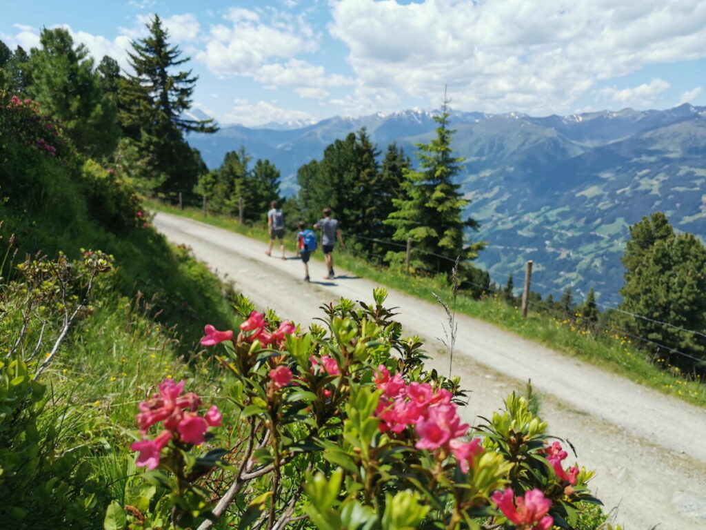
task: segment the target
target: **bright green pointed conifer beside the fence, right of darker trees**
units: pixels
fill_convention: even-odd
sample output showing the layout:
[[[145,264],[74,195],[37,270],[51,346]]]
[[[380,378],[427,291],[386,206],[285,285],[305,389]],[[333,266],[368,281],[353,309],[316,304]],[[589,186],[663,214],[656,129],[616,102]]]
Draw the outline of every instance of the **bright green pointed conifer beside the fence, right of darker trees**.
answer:
[[[463,219],[469,201],[462,197],[455,177],[462,170],[464,158],[451,148],[452,129],[448,128],[448,100],[444,100],[436,137],[429,143],[417,143],[419,170],[405,170],[404,195],[393,199],[396,211],[385,223],[395,228],[393,239],[412,239],[412,265],[415,269],[450,273],[455,257],[465,262],[477,257],[483,243],[465,245],[465,228],[477,229],[472,218]],[[445,256],[450,259],[444,259]],[[401,263],[405,252],[388,252],[393,263]]]

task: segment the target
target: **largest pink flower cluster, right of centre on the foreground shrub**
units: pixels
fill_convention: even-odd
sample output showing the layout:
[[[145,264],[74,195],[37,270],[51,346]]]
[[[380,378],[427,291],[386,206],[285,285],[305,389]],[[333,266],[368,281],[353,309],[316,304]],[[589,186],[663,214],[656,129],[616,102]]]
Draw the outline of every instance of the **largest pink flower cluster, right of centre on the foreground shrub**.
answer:
[[[376,416],[382,421],[382,432],[402,432],[407,425],[414,425],[419,441],[414,447],[451,453],[467,473],[477,454],[484,451],[480,440],[465,442],[468,424],[461,423],[457,406],[451,403],[452,395],[445,389],[433,390],[429,383],[406,384],[400,374],[390,377],[389,370],[378,366],[375,377],[383,395],[378,403]]]

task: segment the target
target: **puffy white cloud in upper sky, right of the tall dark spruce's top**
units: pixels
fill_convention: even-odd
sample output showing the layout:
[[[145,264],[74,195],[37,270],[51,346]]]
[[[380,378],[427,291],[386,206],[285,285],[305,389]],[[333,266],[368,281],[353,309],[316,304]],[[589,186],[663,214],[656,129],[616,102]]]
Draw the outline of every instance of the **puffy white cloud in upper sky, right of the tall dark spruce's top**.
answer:
[[[196,59],[217,76],[254,75],[268,58],[288,59],[311,52],[317,43],[303,18],[270,10],[264,23],[261,13],[232,8],[225,16],[230,25],[210,28],[208,43]]]

